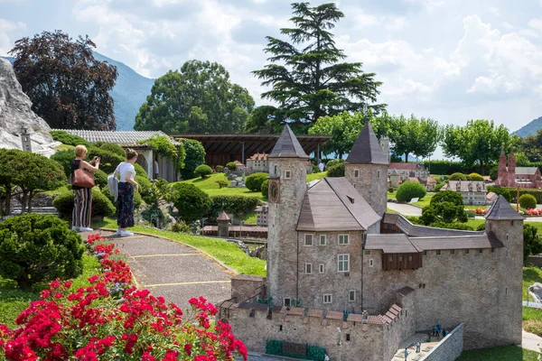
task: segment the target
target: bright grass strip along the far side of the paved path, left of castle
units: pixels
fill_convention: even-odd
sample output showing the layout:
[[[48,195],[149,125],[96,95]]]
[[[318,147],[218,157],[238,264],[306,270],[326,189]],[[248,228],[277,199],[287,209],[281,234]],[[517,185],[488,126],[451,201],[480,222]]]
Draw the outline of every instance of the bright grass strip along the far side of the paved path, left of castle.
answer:
[[[106,218],[100,224],[93,224],[94,227],[107,227],[117,229],[117,220]],[[208,238],[204,236],[192,236],[185,233],[167,232],[151,227],[135,226],[131,231],[141,232],[148,235],[163,236],[186,245],[192,245],[201,249],[208,255],[212,255],[221,263],[228,265],[238,273],[254,274],[257,276],[266,276],[266,261],[245,255],[237,245],[223,241],[217,238]]]

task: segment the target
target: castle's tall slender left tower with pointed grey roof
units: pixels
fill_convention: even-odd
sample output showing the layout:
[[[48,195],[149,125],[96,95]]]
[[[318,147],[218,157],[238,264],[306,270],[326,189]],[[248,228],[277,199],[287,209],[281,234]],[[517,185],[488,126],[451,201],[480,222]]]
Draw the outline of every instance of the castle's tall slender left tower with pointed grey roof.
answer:
[[[297,298],[295,226],[307,190],[308,155],[289,126],[269,154],[267,210],[267,286],[275,305]]]

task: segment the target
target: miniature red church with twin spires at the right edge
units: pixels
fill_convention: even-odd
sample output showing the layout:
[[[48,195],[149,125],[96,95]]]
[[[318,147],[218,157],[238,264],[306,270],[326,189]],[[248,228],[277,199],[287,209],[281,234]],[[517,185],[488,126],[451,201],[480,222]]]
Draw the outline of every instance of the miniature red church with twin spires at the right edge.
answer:
[[[504,148],[500,149],[499,175],[495,185],[513,188],[540,188],[542,177],[538,167],[516,167],[514,151],[510,148],[508,167]]]

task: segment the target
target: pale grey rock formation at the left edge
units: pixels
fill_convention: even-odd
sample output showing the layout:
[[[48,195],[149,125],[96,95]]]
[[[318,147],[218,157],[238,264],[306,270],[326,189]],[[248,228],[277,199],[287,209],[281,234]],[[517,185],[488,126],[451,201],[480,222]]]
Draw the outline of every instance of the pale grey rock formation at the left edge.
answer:
[[[21,129],[31,131],[32,150],[50,156],[58,145],[52,140],[51,128],[34,114],[30,98],[23,93],[21,84],[15,78],[12,65],[0,59],[0,148],[23,149]]]

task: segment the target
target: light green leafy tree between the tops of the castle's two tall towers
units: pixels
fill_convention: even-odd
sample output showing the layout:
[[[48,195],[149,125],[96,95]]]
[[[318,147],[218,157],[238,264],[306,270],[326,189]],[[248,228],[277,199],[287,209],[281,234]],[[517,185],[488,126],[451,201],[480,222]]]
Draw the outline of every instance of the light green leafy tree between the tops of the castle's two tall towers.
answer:
[[[332,135],[332,139],[323,146],[324,154],[337,153],[342,158],[344,153],[349,153],[358,139],[361,129],[366,122],[372,125],[377,137],[391,134],[391,117],[386,111],[378,116],[373,116],[372,111],[364,116],[361,112],[350,114],[342,112],[336,116],[322,116],[309,128],[309,134]]]

